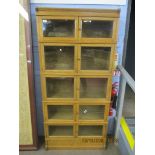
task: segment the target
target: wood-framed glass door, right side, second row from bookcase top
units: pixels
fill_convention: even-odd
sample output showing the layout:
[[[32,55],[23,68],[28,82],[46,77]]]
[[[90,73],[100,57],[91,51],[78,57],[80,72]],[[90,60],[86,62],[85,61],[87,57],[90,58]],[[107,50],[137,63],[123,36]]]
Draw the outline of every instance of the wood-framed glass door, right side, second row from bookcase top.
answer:
[[[113,45],[82,44],[78,52],[78,70],[81,74],[111,74],[113,57]]]

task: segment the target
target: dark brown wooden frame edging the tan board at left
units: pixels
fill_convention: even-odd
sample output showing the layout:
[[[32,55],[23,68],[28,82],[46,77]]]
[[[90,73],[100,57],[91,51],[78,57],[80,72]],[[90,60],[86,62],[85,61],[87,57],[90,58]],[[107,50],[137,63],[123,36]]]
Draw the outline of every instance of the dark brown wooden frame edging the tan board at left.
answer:
[[[24,21],[25,26],[25,42],[26,42],[26,56],[27,56],[27,71],[28,71],[28,85],[30,97],[30,114],[32,124],[32,139],[33,144],[19,145],[19,150],[37,150],[38,149],[38,133],[36,124],[36,106],[35,106],[35,91],[34,91],[34,71],[33,71],[33,55],[32,55],[32,35],[31,35],[31,20],[29,0],[23,0],[23,8],[27,11],[29,21]]]

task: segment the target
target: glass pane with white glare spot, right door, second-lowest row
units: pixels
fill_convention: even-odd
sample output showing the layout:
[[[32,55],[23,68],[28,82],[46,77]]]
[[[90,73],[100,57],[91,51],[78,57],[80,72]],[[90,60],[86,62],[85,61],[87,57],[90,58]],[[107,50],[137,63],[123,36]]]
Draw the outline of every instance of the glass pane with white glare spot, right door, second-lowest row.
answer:
[[[80,105],[79,119],[82,120],[104,119],[104,106]]]

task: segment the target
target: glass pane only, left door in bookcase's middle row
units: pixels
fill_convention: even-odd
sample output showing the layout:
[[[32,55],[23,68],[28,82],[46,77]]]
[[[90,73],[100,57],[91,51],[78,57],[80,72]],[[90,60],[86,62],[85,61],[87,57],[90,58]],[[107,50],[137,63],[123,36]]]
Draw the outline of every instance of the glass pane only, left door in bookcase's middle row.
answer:
[[[73,78],[46,78],[47,97],[51,98],[73,98]]]

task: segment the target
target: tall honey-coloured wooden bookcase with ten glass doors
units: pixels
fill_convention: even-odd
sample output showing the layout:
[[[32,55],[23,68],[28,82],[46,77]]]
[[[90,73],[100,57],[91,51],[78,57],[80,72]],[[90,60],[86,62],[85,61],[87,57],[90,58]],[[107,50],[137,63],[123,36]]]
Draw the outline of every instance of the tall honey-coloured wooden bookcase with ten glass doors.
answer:
[[[37,8],[46,149],[104,148],[119,10]]]

